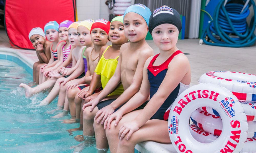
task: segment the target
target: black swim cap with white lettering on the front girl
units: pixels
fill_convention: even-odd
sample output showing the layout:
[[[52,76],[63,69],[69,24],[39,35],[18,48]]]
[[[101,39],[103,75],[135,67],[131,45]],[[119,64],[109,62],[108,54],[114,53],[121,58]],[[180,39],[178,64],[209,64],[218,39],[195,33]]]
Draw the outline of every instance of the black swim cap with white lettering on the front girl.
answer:
[[[176,9],[170,8],[166,5],[155,9],[149,19],[148,31],[151,34],[153,29],[156,26],[164,23],[170,23],[175,25],[178,28],[180,33],[182,24],[181,24],[179,12],[176,11]]]

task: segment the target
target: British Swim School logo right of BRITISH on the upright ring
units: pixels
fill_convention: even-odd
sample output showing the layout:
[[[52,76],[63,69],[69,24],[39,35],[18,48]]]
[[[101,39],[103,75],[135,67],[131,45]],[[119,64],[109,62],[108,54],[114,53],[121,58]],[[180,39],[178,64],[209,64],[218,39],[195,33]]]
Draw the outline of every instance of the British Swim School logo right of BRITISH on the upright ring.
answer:
[[[232,118],[233,116],[235,116],[235,111],[232,108],[235,104],[234,99],[232,99],[231,97],[226,97],[219,103],[221,105],[221,108],[227,114],[228,117]]]

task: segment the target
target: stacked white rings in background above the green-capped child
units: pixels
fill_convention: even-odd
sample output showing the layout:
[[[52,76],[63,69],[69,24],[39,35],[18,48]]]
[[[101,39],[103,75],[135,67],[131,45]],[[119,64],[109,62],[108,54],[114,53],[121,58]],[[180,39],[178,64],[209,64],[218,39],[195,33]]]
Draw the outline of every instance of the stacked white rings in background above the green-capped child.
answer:
[[[115,15],[124,15],[124,11],[131,6],[131,2],[131,0],[115,0],[113,13]]]

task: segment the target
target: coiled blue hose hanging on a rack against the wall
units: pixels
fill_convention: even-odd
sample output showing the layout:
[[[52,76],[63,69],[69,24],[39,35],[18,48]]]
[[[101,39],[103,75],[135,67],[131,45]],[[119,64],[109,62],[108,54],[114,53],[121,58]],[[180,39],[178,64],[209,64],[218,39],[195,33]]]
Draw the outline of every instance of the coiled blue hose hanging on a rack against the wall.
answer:
[[[224,47],[246,47],[252,46],[256,41],[254,35],[256,25],[256,6],[253,0],[250,0],[246,8],[241,12],[243,5],[229,3],[224,6],[221,0],[214,10],[213,20],[203,31],[201,39],[207,45]],[[232,0],[229,0],[230,2]],[[243,0],[246,1],[246,0]],[[249,7],[253,6],[254,16],[251,19],[250,26],[246,23],[246,18],[250,14]],[[240,14],[241,12],[241,14]],[[230,36],[229,34],[232,34]],[[205,38],[214,42],[208,42]],[[220,39],[216,37],[219,36]],[[201,40],[200,40],[201,41]]]

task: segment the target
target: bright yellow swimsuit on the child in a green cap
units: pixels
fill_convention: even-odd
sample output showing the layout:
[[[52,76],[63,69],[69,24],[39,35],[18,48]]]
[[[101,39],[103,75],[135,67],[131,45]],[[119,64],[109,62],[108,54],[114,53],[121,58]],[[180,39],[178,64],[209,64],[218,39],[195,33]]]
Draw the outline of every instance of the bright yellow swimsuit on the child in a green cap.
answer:
[[[115,73],[115,69],[118,63],[118,58],[119,56],[117,56],[115,59],[110,58],[110,59],[105,59],[104,54],[105,52],[108,50],[110,46],[108,46],[106,48],[106,50],[104,51],[104,53],[102,54],[97,67],[95,68],[94,72],[98,75],[100,75],[101,78],[101,84],[102,84],[102,88],[104,89],[104,87],[106,86],[106,84],[109,82],[110,78],[114,75]],[[123,85],[120,84],[118,88],[116,88],[115,91],[113,91],[111,94],[109,94],[108,96],[111,95],[121,95],[124,92],[124,88]]]

